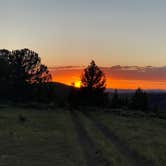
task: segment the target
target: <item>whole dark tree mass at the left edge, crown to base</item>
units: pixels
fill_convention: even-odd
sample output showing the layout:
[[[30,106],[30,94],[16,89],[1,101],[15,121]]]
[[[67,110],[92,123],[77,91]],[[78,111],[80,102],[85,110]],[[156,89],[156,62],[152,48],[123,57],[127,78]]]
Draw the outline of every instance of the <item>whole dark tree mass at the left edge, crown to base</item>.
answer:
[[[45,83],[50,80],[51,74],[47,66],[41,64],[40,57],[34,51],[0,50],[0,97],[32,99],[36,89],[47,96],[49,86]]]

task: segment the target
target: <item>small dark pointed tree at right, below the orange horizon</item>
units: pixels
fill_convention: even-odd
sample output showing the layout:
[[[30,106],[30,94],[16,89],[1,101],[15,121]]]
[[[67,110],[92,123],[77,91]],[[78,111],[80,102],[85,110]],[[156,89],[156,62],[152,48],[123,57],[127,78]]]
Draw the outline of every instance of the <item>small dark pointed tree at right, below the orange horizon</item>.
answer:
[[[148,96],[142,89],[138,88],[132,97],[131,106],[133,109],[147,111],[148,109]]]

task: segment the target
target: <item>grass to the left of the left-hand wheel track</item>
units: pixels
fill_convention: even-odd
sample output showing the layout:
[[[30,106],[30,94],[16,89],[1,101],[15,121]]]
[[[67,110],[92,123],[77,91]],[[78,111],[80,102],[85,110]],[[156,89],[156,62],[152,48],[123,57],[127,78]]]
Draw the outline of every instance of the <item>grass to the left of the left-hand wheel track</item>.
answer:
[[[0,165],[84,166],[69,112],[1,109]]]

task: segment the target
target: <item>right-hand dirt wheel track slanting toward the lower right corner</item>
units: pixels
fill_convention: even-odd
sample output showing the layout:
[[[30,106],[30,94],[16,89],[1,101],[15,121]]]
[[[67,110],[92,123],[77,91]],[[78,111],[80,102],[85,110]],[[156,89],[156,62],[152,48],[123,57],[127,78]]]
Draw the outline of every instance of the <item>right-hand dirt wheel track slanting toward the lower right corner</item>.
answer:
[[[107,137],[117,149],[128,159],[133,166],[154,166],[152,161],[146,160],[140,156],[136,151],[131,150],[125,141],[116,136],[108,127],[92,117],[90,114],[83,113],[89,120],[91,120],[96,128],[98,128]]]

